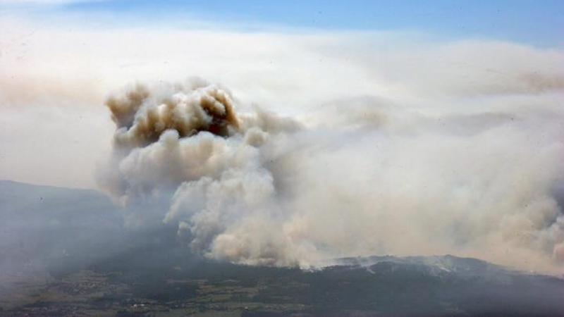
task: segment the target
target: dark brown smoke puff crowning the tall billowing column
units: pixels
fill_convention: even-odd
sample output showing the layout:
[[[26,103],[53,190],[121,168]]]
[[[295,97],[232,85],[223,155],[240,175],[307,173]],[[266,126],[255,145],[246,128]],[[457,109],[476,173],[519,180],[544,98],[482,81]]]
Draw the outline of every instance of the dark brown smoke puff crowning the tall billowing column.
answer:
[[[107,99],[106,106],[121,129],[116,144],[124,147],[145,147],[166,130],[176,130],[179,137],[202,131],[228,137],[239,128],[231,97],[212,86],[180,89],[159,100],[147,87],[136,85],[122,96]]]

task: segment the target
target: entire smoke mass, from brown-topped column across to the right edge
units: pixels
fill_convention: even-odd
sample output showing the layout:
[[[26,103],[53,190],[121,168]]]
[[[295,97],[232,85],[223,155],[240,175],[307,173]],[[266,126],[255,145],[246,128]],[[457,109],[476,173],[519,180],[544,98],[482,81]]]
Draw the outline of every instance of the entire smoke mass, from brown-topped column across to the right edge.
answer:
[[[424,116],[358,97],[283,118],[237,112],[202,80],[106,101],[99,183],[130,225],[178,225],[214,259],[312,266],[338,256],[457,254],[558,271],[562,113]]]

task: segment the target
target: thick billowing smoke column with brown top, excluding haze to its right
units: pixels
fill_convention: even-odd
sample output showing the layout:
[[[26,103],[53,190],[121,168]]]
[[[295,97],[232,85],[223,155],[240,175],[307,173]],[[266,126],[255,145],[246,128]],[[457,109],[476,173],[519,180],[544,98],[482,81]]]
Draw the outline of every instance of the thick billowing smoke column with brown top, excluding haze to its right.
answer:
[[[179,235],[188,231],[194,251],[241,263],[298,263],[277,227],[281,211],[266,167],[273,154],[264,150],[270,138],[298,130],[297,122],[264,112],[237,116],[229,92],[197,80],[137,85],[106,104],[117,130],[101,182],[121,204],[134,205],[128,216],[135,225],[147,225],[135,213],[149,209],[178,223]]]

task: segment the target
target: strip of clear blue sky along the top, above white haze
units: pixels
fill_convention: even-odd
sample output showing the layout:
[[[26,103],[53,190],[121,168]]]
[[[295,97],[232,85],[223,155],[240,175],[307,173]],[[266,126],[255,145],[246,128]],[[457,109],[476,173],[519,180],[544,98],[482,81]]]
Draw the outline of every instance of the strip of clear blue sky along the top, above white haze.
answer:
[[[200,20],[240,23],[247,30],[260,30],[264,25],[317,30],[403,30],[429,32],[448,39],[503,39],[540,46],[561,46],[564,32],[564,3],[558,0],[3,0],[0,6],[5,8],[3,14],[8,15],[16,7],[27,13],[34,11],[39,17],[97,12],[110,20],[116,15],[120,20],[123,15],[130,15],[145,23],[165,21],[178,25],[183,18],[196,16]],[[171,17],[180,21],[170,21]]]

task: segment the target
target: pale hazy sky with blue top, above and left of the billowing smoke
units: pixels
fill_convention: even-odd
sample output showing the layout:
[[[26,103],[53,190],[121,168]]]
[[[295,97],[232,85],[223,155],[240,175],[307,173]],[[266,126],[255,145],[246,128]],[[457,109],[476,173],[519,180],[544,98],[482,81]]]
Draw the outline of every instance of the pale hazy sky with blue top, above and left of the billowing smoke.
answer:
[[[513,67],[509,46],[520,51],[515,63],[527,61],[527,50],[560,54],[563,6],[1,0],[0,178],[95,187],[112,133],[104,98],[135,80],[202,76],[243,104],[293,114],[353,94],[419,98],[422,89],[404,88],[431,70],[430,91],[475,86],[477,70],[508,80],[496,67]],[[450,66],[436,68],[443,61]]]

